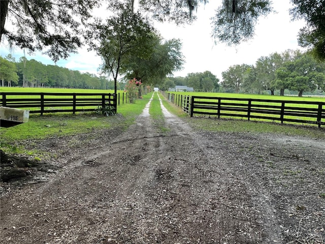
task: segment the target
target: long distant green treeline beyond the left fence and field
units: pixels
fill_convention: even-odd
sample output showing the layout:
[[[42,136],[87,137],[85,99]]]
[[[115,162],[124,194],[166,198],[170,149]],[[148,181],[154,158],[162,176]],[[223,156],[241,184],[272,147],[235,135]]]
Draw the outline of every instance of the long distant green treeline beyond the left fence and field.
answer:
[[[10,54],[0,58],[1,86],[114,89],[114,81],[105,76],[44,65],[35,59],[27,60],[26,57],[16,62]]]

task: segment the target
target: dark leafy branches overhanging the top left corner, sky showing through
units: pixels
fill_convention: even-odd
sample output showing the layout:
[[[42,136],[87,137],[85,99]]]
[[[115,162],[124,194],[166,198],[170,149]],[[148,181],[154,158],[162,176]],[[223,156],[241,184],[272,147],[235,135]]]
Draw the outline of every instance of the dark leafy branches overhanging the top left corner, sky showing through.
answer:
[[[9,43],[34,52],[48,48],[44,53],[54,61],[67,58],[82,45],[82,24],[90,17],[93,8],[101,1],[60,0],[2,0],[1,36]],[[6,27],[7,20],[15,28]]]

